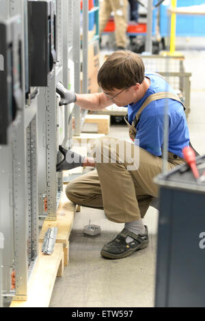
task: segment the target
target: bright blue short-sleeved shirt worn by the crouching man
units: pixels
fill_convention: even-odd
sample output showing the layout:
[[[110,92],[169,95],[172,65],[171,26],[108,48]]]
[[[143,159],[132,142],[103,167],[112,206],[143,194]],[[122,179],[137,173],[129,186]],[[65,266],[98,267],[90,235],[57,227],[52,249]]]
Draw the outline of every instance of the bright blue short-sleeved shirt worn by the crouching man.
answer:
[[[137,111],[144,101],[156,92],[174,92],[174,90],[167,84],[161,76],[156,73],[146,72],[146,77],[150,79],[150,87],[146,94],[137,103],[128,105],[128,122],[132,124]],[[152,153],[156,156],[162,155],[163,149],[163,131],[164,131],[164,111],[165,100],[159,99],[152,101],[141,112],[139,123],[137,124],[136,139],[139,140],[139,146],[142,149]],[[169,114],[169,145],[168,150],[180,157],[184,146],[189,146],[189,129],[187,127],[187,120],[184,114],[183,106],[180,102],[174,99],[168,101]]]

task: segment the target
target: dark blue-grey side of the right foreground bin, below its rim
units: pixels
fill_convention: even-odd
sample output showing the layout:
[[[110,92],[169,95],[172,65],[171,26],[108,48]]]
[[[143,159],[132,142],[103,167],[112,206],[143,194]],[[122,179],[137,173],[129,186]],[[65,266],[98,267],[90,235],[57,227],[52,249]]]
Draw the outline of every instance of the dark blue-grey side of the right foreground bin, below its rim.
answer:
[[[205,307],[205,194],[163,186],[160,196],[155,305]]]

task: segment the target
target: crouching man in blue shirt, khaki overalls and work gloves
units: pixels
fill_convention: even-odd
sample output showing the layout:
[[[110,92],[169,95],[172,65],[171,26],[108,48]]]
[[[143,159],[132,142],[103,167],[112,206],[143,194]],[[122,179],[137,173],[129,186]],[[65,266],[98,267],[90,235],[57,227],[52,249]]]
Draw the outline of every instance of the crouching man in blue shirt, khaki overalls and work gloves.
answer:
[[[161,172],[163,164],[166,99],[168,169],[184,162],[182,149],[189,146],[189,130],[184,107],[174,90],[160,75],[145,72],[143,61],[136,53],[115,51],[109,55],[98,72],[98,84],[101,93],[67,92],[63,103],[76,102],[87,110],[101,110],[113,103],[128,107],[125,121],[133,142],[105,136],[94,142],[94,158],[79,155],[77,164],[69,164],[64,157],[57,170],[96,166],[96,170],[69,183],[66,194],[73,203],[104,209],[109,220],[124,223],[122,232],[101,250],[103,257],[120,259],[148,246],[148,227],[142,219],[158,196],[153,178]],[[66,156],[67,151],[62,153]]]

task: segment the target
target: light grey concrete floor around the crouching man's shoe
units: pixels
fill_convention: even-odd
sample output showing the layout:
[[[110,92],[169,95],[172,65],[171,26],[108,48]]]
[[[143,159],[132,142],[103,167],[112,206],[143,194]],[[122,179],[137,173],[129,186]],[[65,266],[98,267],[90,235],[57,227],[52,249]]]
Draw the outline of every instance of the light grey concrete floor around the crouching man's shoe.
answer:
[[[182,53],[185,69],[192,73],[188,118],[191,142],[199,153],[205,153],[205,51]],[[113,125],[110,136],[126,139],[128,129],[125,125]],[[83,234],[89,219],[100,225],[100,235]],[[55,281],[50,307],[154,307],[158,211],[150,207],[143,222],[149,229],[148,248],[125,259],[103,259],[100,249],[124,224],[108,221],[104,211],[81,207],[70,235],[70,262],[63,277]]]

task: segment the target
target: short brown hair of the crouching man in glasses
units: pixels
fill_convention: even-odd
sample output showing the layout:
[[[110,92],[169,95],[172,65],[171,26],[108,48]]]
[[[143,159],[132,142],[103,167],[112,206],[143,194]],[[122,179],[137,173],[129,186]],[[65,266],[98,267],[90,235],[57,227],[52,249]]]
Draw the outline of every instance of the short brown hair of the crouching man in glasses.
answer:
[[[98,71],[98,85],[103,90],[129,88],[141,84],[145,68],[141,57],[133,51],[115,51]]]

